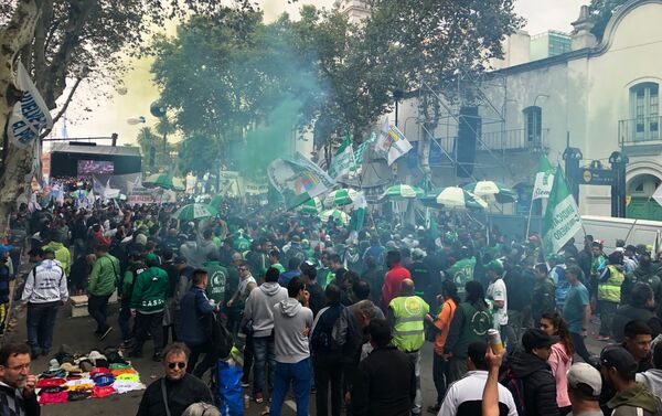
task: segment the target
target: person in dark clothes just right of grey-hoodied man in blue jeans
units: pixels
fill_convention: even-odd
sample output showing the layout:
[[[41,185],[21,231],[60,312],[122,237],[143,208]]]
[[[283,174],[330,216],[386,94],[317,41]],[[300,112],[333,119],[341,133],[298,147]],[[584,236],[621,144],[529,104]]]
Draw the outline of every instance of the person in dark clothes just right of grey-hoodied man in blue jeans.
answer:
[[[342,350],[333,341],[333,327],[344,306],[340,302],[340,288],[327,286],[324,295],[328,306],[322,308],[312,324],[310,349],[314,375],[316,407],[318,416],[329,415],[329,384],[331,384],[331,415],[340,416],[342,408]]]

